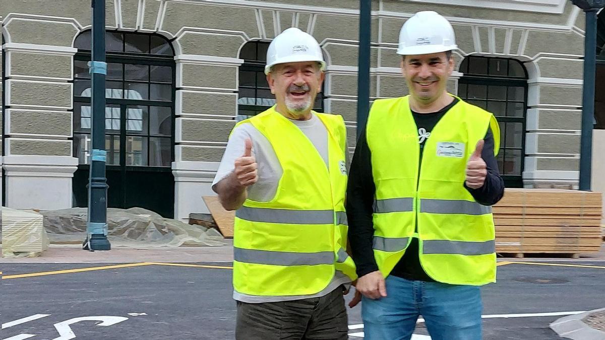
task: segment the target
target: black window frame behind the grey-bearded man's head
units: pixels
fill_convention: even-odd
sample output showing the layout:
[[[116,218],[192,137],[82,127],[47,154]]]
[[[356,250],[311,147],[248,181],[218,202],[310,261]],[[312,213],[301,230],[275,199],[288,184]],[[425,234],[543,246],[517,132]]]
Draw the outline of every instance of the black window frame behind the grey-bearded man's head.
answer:
[[[241,90],[254,90],[255,102],[257,102],[258,99],[262,99],[262,97],[258,97],[258,94],[257,94],[258,90],[270,90],[268,85],[267,85],[267,87],[262,87],[262,86],[259,86],[259,84],[258,84],[259,74],[262,74],[261,79],[264,79],[264,67],[266,65],[265,52],[267,51],[269,44],[270,44],[270,42],[255,40],[255,41],[249,41],[246,44],[244,44],[243,47],[241,47],[240,58],[244,59],[244,63],[240,66],[240,70],[238,71],[239,74],[238,74],[237,114],[239,117],[255,116],[256,114],[259,114],[271,107],[271,106],[258,105],[258,104],[249,105],[249,104],[240,104],[239,103]],[[254,49],[254,53],[253,53],[254,58],[252,59],[250,57],[242,56],[242,53],[244,53],[244,49],[250,48],[251,46],[254,47],[253,48]],[[243,82],[245,82],[243,72],[254,72],[255,73],[255,77],[254,77],[255,85],[254,86],[241,85]],[[266,83],[266,80],[264,81],[264,83]],[[325,84],[325,82],[323,82],[321,84],[321,91],[319,91],[317,96],[315,97],[315,102],[313,103],[313,111],[321,112],[321,113],[324,112],[324,108],[325,108],[324,84]],[[316,105],[317,103],[319,103],[319,105]],[[243,114],[244,112],[254,113],[254,114],[253,115]]]

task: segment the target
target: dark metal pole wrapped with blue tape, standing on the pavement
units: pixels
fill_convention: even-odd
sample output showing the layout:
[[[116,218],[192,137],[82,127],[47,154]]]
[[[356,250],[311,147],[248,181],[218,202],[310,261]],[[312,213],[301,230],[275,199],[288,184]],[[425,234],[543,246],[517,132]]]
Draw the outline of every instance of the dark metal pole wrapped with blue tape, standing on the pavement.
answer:
[[[88,224],[85,250],[110,250],[107,240],[107,184],[105,178],[105,0],[93,0],[93,56],[91,74],[93,123],[91,126],[90,177],[88,178]]]

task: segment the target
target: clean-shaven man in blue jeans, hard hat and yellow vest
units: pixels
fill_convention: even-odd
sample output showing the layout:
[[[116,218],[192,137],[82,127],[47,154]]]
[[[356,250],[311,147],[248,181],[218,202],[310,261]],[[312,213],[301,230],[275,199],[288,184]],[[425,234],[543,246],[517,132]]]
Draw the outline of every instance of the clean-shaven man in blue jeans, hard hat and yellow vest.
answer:
[[[410,95],[373,103],[353,156],[349,237],[369,340],[410,339],[419,315],[434,340],[481,339],[500,130],[446,92],[453,50],[454,30],[434,11],[405,22],[397,53]]]

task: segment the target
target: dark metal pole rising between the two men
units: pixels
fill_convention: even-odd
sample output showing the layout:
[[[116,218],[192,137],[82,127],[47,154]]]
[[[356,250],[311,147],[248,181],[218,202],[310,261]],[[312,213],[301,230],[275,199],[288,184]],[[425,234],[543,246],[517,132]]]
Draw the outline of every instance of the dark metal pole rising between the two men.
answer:
[[[371,0],[359,0],[359,59],[357,79],[357,137],[365,128],[370,111],[370,19]]]

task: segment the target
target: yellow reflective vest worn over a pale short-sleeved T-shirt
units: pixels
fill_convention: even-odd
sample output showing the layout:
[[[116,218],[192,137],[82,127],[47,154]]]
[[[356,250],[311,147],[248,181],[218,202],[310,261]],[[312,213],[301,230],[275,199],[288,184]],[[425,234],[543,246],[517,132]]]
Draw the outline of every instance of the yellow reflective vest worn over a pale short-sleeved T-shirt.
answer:
[[[248,199],[235,213],[233,283],[239,293],[311,295],[327,287],[335,270],[356,278],[345,251],[344,120],[313,114],[328,131],[329,169],[313,143],[275,108],[238,123],[252,123],[269,140],[283,169],[272,200]]]

